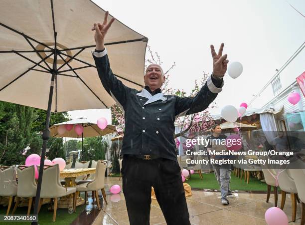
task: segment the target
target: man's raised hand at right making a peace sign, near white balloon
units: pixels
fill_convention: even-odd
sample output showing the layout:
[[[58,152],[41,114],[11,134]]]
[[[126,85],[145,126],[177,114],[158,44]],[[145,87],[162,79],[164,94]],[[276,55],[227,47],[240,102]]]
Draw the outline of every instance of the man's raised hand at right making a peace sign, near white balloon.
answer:
[[[227,71],[227,64],[229,60],[227,60],[227,54],[222,55],[224,43],[221,43],[218,54],[216,54],[214,46],[211,45],[211,53],[213,57],[213,74],[217,78],[222,78]]]

